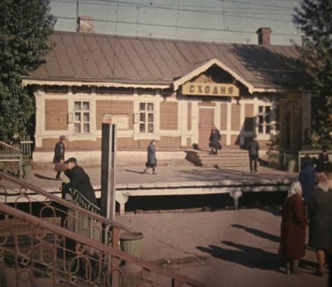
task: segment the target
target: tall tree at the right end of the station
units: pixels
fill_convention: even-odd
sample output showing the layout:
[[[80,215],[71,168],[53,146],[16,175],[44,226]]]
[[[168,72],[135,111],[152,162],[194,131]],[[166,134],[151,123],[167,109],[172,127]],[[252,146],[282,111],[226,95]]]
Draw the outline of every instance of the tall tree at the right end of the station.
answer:
[[[332,0],[302,0],[293,22],[303,33],[299,47],[313,91],[314,148],[332,147]]]

